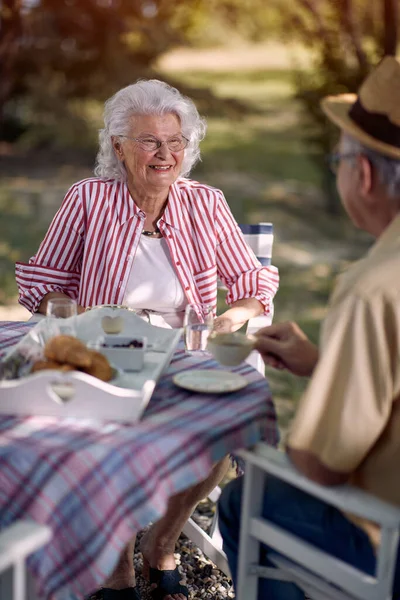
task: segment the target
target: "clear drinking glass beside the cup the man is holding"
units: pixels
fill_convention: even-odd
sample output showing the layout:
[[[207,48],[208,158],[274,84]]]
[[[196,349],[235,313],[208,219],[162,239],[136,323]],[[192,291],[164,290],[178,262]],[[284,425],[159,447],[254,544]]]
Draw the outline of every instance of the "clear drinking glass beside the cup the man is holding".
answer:
[[[185,347],[188,352],[204,352],[213,328],[213,309],[207,304],[188,304],[185,309]]]

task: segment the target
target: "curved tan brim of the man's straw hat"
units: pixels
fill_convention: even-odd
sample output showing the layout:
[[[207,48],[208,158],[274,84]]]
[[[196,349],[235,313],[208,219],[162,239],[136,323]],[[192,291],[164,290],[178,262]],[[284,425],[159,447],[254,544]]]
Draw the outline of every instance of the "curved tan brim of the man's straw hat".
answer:
[[[400,148],[385,144],[366,133],[350,117],[349,110],[357,100],[356,94],[340,94],[339,96],[327,96],[321,101],[321,108],[326,116],[335,125],[340,127],[367,148],[376,150],[385,156],[400,159]]]

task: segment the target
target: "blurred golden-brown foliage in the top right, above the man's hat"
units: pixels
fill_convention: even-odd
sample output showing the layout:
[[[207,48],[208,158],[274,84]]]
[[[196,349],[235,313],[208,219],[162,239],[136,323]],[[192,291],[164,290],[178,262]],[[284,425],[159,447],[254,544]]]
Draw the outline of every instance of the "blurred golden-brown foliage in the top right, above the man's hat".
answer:
[[[336,128],[329,128],[320,100],[329,94],[356,92],[367,73],[398,47],[398,0],[274,0],[281,31],[299,41],[313,56],[312,68],[297,69],[297,96],[308,117],[308,137],[320,162],[333,147]],[[321,172],[326,173],[325,165]],[[330,212],[338,210],[326,177]]]

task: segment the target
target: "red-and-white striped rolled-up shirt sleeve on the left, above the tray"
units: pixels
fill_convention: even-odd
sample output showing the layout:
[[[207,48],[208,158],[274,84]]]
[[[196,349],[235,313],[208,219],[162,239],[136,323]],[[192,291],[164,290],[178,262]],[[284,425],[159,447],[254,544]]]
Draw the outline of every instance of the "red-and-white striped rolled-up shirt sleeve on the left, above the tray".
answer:
[[[76,186],[65,196],[39,250],[29,263],[16,264],[19,302],[36,312],[49,292],[78,299],[83,254],[84,218]]]

